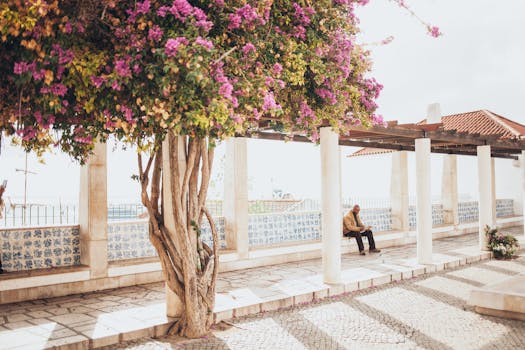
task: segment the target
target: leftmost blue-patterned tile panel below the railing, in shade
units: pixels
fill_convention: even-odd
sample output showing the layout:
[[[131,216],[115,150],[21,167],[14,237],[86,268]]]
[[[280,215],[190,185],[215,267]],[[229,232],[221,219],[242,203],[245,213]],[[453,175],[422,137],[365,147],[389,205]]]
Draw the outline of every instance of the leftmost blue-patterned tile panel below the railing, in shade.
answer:
[[[6,272],[80,264],[79,226],[0,230]]]

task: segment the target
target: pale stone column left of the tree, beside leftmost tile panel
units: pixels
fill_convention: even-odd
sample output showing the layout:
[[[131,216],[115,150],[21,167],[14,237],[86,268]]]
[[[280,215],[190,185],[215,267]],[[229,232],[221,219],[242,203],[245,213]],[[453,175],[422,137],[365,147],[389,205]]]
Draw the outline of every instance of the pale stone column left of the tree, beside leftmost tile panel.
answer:
[[[80,168],[80,262],[91,278],[107,276],[108,200],[106,144],[97,143],[94,154]]]

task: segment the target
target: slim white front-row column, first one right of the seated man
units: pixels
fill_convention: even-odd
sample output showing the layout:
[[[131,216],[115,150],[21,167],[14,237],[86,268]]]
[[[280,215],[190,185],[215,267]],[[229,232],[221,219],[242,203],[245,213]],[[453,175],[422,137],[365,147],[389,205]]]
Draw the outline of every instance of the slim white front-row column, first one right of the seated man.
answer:
[[[430,139],[416,144],[417,262],[432,263],[432,191],[430,180]]]

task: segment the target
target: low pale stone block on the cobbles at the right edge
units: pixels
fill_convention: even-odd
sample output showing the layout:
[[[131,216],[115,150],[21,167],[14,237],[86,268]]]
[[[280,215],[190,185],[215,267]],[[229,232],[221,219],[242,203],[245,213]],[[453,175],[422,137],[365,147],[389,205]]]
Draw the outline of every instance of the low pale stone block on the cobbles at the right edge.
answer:
[[[525,273],[473,289],[468,303],[482,314],[525,320]]]

